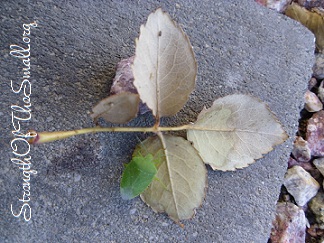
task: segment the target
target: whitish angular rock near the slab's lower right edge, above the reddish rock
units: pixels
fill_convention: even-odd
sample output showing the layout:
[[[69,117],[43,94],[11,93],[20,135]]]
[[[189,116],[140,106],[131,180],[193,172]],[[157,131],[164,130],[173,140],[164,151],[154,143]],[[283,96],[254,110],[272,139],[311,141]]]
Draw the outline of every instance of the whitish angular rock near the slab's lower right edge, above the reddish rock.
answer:
[[[287,170],[283,184],[298,206],[304,206],[320,188],[318,182],[298,165]]]

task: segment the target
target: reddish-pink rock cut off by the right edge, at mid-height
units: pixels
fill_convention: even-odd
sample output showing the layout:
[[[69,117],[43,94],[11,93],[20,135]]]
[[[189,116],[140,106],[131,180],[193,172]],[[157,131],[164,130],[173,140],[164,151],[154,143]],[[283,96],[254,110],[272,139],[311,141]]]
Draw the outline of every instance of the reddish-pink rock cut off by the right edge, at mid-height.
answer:
[[[312,156],[324,157],[324,110],[315,113],[308,120],[306,141]]]

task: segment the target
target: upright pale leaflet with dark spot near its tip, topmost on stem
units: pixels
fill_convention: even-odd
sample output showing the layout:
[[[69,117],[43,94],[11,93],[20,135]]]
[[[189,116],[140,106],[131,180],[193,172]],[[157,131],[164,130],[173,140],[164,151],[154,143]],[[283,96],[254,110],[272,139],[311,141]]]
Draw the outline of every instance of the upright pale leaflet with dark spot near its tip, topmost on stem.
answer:
[[[142,101],[158,118],[176,114],[194,90],[197,64],[189,39],[161,9],[141,26],[133,73]]]

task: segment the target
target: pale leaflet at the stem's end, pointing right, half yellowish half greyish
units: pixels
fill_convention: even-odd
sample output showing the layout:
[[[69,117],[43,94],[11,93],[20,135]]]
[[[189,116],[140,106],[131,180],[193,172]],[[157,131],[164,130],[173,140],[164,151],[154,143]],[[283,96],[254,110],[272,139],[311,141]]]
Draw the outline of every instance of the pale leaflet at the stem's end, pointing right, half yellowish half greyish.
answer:
[[[187,136],[205,163],[223,171],[247,167],[287,138],[264,103],[238,94],[203,110]]]

